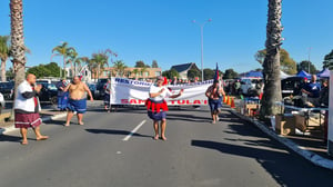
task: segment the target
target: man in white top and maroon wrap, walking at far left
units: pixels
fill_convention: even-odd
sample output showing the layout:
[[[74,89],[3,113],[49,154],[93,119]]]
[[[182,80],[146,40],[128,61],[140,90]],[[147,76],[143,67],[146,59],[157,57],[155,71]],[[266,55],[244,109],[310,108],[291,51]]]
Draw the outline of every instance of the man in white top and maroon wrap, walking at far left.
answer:
[[[46,140],[49,137],[42,136],[40,125],[42,120],[39,116],[41,109],[38,95],[42,86],[36,86],[36,76],[29,73],[27,79],[18,87],[18,94],[14,101],[14,126],[20,128],[22,145],[28,145],[28,128],[32,128],[37,140]]]

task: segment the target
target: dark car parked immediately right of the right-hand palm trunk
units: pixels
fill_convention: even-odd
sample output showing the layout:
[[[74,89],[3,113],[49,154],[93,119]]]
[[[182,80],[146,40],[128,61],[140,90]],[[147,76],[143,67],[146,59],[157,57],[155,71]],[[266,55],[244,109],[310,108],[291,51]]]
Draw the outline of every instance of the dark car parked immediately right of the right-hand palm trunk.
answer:
[[[302,77],[289,77],[286,79],[282,79],[281,80],[282,97],[289,97],[291,95],[293,96],[300,95],[303,79],[304,78]]]

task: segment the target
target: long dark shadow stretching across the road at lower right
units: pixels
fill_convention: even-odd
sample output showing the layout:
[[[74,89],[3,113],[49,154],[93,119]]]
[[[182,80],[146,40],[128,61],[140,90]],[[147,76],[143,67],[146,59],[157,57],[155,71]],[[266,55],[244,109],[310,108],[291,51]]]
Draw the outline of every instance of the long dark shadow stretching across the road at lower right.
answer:
[[[332,184],[333,181],[333,173],[314,167],[301,157],[293,157],[287,152],[209,140],[192,140],[191,145],[223,154],[254,158],[281,186],[317,186],[319,183]],[[295,164],[299,161],[304,161],[304,164]]]

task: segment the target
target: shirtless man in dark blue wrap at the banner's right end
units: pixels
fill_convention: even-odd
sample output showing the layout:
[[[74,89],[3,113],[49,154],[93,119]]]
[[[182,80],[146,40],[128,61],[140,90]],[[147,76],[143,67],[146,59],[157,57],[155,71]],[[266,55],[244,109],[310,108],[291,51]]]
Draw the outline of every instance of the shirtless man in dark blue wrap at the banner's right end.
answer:
[[[219,114],[222,107],[222,96],[225,96],[223,87],[221,87],[218,79],[215,79],[213,85],[206,89],[205,96],[209,99],[212,124],[215,124],[219,121]]]

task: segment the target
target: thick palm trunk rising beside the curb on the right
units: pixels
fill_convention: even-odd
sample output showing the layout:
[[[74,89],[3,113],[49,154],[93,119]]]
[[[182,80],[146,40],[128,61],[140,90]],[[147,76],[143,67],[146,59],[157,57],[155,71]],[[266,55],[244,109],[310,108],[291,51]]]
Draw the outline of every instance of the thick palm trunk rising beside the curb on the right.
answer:
[[[280,81],[280,47],[282,45],[281,24],[282,0],[269,0],[269,18],[266,26],[266,56],[263,62],[264,95],[261,101],[262,119],[276,115],[280,107],[275,104],[282,100]]]

